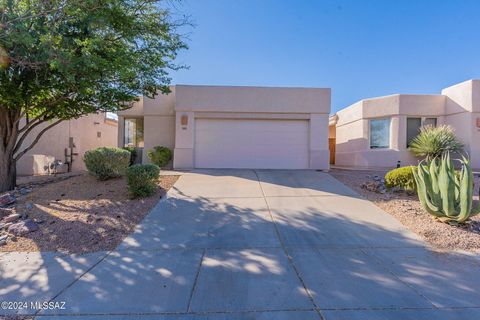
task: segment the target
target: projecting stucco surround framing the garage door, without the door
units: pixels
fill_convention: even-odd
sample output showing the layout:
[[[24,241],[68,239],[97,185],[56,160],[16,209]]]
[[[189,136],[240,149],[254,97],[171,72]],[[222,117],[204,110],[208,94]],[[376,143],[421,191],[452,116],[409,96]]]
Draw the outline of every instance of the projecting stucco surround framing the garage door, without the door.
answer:
[[[185,86],[175,87],[174,167],[195,167],[195,119],[309,119],[309,167],[329,168],[328,115],[330,89]],[[182,117],[188,124],[181,125]],[[254,143],[254,142],[252,142]]]

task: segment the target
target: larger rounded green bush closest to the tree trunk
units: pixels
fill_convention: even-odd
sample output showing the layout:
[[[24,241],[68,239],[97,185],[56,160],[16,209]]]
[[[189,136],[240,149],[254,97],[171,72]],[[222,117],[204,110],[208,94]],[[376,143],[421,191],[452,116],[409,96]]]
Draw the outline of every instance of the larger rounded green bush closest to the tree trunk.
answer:
[[[83,161],[88,172],[99,180],[107,180],[125,174],[130,163],[130,152],[121,148],[101,147],[85,152]]]

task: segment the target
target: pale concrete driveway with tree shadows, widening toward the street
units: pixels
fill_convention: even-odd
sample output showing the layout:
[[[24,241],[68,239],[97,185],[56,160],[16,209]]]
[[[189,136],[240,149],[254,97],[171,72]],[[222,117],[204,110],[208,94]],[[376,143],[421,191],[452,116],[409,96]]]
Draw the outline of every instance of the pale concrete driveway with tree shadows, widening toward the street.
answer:
[[[478,257],[315,171],[186,173],[113,252],[0,261],[0,300],[65,302],[39,319],[480,318]]]

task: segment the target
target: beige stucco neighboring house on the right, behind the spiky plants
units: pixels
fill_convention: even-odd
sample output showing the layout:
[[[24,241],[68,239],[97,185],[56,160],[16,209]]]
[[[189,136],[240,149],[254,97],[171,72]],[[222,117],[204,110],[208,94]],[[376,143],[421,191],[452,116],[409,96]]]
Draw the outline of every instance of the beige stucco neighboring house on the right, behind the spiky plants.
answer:
[[[395,94],[359,101],[330,117],[331,159],[337,166],[395,167],[416,164],[408,145],[421,126],[448,124],[480,168],[480,80],[439,95]]]

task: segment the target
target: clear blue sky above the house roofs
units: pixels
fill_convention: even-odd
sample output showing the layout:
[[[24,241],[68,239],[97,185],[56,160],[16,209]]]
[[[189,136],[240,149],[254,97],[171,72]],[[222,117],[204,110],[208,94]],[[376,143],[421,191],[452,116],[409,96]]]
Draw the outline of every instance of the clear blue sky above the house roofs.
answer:
[[[196,26],[174,84],[328,87],[333,113],[480,78],[477,0],[186,0],[178,10]]]

